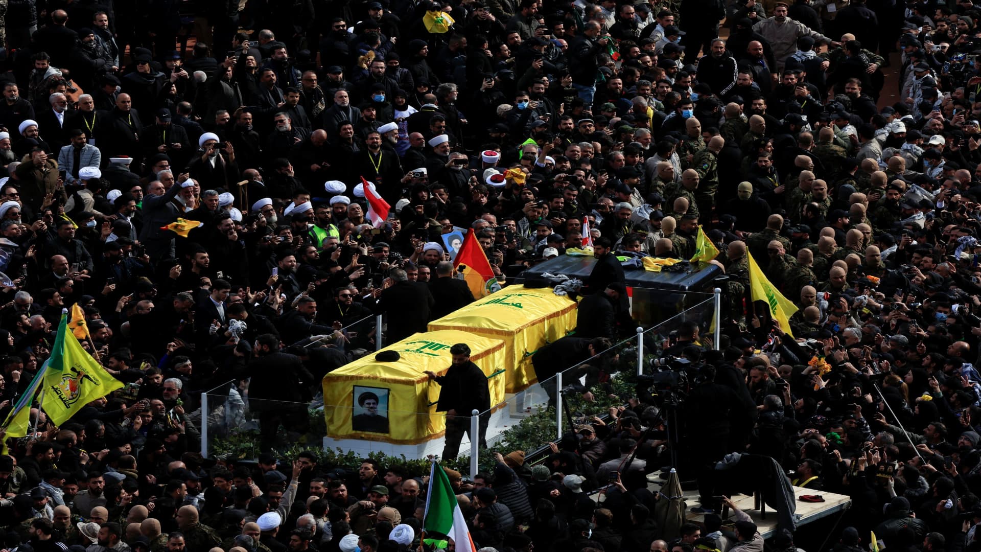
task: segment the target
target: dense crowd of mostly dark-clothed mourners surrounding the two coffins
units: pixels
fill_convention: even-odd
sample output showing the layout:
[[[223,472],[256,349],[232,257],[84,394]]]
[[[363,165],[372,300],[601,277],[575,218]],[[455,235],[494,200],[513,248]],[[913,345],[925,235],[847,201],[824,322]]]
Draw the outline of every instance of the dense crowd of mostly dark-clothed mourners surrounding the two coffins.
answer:
[[[287,461],[309,419],[282,406],[473,302],[470,233],[502,286],[592,244],[541,379],[630,335],[623,264],[684,263],[701,226],[721,350],[682,324],[658,344],[680,388],[639,381],[536,466],[447,469],[475,545],[762,552],[725,496],[789,480],[851,498],[839,552],[872,529],[981,550],[978,22],[971,0],[0,0],[0,416],[74,304],[125,384],[59,427],[31,411],[0,548],[430,548],[427,477]],[[257,463],[202,458],[215,389],[258,417]],[[647,475],[676,464],[697,524],[654,515]],[[817,552],[792,527],[766,547]]]

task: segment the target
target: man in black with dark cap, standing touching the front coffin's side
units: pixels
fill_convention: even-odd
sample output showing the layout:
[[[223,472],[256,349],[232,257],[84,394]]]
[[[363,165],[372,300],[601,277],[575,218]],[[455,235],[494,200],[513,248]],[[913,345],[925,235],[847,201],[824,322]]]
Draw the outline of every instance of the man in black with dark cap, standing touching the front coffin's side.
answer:
[[[439,390],[436,410],[446,413],[443,460],[456,458],[464,431],[473,441],[474,435],[470,434],[470,417],[473,411],[482,413],[479,438],[481,446],[487,448],[484,437],[490,421],[490,385],[484,371],[470,361],[470,347],[457,343],[449,349],[449,353],[453,356],[453,363],[446,370],[446,375],[436,375],[435,372],[426,370],[426,375],[442,388]]]

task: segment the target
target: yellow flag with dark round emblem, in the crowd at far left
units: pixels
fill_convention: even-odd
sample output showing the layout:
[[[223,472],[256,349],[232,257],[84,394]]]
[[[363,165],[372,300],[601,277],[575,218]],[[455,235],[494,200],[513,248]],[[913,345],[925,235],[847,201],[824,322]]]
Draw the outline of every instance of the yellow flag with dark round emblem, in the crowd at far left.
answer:
[[[65,423],[88,403],[123,387],[122,381],[109,375],[68,333],[68,316],[62,314],[41,386],[41,408],[55,425]]]

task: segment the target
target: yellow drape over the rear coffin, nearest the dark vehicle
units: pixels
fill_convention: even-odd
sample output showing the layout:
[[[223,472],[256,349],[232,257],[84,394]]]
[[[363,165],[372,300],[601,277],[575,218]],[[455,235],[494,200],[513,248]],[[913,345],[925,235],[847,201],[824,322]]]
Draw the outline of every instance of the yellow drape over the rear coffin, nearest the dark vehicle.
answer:
[[[576,328],[576,303],[551,288],[508,286],[430,322],[430,331],[467,328],[471,334],[503,339],[508,393],[535,383],[531,354]]]

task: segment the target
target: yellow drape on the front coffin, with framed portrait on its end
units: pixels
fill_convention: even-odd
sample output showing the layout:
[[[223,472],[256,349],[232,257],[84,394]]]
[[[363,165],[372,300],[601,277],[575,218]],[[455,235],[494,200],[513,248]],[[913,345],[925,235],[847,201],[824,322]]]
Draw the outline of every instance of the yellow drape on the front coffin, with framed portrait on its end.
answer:
[[[378,353],[349,362],[324,376],[324,414],[327,435],[334,439],[365,439],[394,444],[417,444],[441,437],[446,429],[445,414],[436,412],[439,384],[424,373],[445,373],[452,363],[449,348],[457,343],[470,346],[470,359],[489,376],[490,406],[504,400],[504,342],[459,330],[415,334],[382,351],[396,351],[394,362],[376,360]],[[385,415],[376,429],[387,425],[387,433],[365,431],[362,405],[355,397],[374,393],[379,399],[378,415]],[[359,427],[355,427],[359,425]]]

